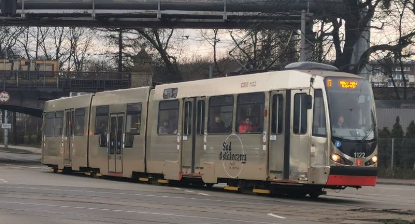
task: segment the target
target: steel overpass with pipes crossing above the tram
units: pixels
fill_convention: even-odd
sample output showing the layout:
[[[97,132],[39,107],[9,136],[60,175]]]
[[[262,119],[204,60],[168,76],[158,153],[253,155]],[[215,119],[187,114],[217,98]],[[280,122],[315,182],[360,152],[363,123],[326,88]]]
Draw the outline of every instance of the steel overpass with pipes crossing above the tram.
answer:
[[[301,11],[344,11],[342,0],[0,0],[1,26],[299,29]]]

